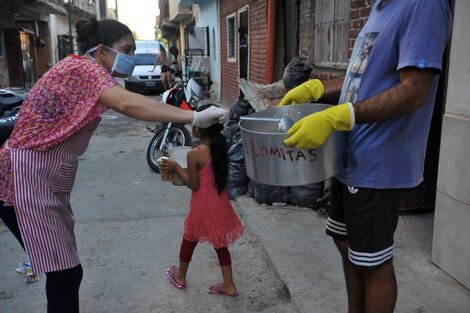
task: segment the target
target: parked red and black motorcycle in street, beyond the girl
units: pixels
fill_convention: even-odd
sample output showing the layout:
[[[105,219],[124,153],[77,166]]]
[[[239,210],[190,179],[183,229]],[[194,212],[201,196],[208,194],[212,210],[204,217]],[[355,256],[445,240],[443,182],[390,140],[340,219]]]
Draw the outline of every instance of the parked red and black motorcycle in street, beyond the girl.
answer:
[[[162,102],[190,111],[196,110],[202,100],[202,87],[192,78],[187,84],[183,80],[174,81],[162,95]],[[147,127],[155,134],[147,148],[147,163],[156,173],[160,172],[158,158],[168,156],[171,147],[191,146],[191,134],[184,124],[170,122],[164,125],[164,128],[158,127],[158,124],[153,128]]]

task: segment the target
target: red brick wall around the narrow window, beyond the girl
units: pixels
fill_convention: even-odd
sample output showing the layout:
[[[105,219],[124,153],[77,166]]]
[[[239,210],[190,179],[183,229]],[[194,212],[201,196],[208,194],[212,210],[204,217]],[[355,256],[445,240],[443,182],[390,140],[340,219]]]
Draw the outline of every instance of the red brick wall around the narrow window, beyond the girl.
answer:
[[[221,102],[231,105],[239,94],[238,88],[238,32],[235,32],[235,62],[227,60],[227,16],[235,13],[235,29],[238,29],[238,10],[248,5],[249,17],[249,62],[248,78],[252,82],[264,83],[266,74],[267,19],[266,0],[221,0],[220,1],[220,57],[221,57]]]

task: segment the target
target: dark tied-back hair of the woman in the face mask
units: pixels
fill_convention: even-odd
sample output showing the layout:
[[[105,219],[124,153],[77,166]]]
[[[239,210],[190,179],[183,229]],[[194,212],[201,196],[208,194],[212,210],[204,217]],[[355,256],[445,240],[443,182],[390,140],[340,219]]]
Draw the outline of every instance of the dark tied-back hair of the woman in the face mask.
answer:
[[[75,28],[81,53],[100,44],[111,47],[125,36],[132,36],[129,27],[116,20],[97,21],[94,18],[79,20],[75,24]]]

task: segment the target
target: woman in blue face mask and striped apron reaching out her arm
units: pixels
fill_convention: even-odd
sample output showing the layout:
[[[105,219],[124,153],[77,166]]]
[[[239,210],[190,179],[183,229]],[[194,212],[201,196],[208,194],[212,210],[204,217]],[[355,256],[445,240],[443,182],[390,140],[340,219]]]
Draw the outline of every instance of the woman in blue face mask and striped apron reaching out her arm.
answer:
[[[24,101],[0,149],[0,217],[26,250],[33,272],[46,273],[48,312],[78,312],[83,271],[70,206],[77,157],[87,148],[100,114],[113,109],[144,121],[223,122],[225,110],[184,111],[120,87],[135,65],[132,33],[114,20],[79,21],[84,56],[50,69]]]

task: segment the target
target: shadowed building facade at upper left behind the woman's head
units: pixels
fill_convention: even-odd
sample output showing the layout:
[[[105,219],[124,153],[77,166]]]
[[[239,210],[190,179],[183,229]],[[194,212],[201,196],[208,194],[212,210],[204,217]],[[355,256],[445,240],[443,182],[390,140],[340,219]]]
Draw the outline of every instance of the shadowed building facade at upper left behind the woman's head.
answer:
[[[55,63],[77,53],[75,23],[114,18],[106,0],[0,0],[0,86],[31,88]]]

